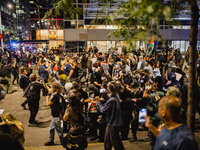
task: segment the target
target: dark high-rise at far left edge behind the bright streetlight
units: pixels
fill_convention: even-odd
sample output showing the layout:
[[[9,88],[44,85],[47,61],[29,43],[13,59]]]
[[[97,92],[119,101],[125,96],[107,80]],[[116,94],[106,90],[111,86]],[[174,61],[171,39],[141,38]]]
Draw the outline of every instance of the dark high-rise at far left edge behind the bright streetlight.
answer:
[[[11,40],[17,36],[17,15],[15,0],[0,0],[1,22],[4,47],[10,46]]]

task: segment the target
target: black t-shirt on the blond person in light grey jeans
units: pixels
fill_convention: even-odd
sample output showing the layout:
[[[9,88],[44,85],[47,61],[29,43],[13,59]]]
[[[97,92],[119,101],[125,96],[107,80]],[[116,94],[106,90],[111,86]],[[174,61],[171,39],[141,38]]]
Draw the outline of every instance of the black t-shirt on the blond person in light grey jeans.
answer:
[[[52,95],[51,102],[53,103],[50,108],[51,108],[51,115],[53,117],[59,117],[59,114],[61,112],[61,101],[63,100],[62,96],[58,93],[55,95]]]

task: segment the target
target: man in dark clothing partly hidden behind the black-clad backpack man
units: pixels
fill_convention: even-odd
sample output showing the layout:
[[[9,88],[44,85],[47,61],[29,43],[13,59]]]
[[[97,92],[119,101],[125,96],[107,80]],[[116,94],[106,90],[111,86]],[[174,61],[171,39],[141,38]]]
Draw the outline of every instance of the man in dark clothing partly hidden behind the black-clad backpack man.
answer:
[[[28,74],[26,69],[22,69],[21,70],[21,78],[20,78],[20,88],[23,89],[23,91],[25,91],[26,87],[29,85],[29,83],[31,82],[28,78]],[[21,104],[21,106],[26,109],[26,104],[28,103],[27,99]]]

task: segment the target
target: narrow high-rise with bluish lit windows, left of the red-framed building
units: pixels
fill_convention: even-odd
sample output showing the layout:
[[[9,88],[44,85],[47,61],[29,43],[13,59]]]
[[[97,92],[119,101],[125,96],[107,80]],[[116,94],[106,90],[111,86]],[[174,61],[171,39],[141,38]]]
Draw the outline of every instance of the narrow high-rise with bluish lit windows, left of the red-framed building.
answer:
[[[17,33],[19,41],[31,39],[31,20],[29,0],[16,0]]]

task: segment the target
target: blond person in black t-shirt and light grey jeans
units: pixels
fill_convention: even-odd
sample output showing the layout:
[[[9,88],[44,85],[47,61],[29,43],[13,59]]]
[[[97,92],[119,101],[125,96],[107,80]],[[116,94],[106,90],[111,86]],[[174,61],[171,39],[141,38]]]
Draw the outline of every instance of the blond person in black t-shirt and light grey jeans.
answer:
[[[61,128],[61,122],[63,113],[62,113],[62,107],[61,104],[64,102],[64,98],[61,95],[62,88],[60,87],[59,83],[53,83],[52,84],[52,94],[46,96],[46,103],[47,106],[50,106],[51,108],[51,124],[50,124],[50,130],[49,130],[49,141],[46,142],[45,146],[51,146],[55,145],[54,143],[54,133],[55,130],[58,134],[58,137],[60,139],[60,144],[63,144],[63,130]],[[51,100],[49,100],[51,98]]]

